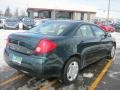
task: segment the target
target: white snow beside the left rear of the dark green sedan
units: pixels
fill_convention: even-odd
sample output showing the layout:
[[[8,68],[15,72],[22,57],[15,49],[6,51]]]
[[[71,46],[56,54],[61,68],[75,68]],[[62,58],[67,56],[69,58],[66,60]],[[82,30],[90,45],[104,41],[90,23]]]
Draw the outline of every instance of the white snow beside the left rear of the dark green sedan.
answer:
[[[0,70],[2,70],[2,68],[7,66],[7,64],[5,63],[4,58],[3,58],[3,52],[4,52],[4,48],[6,46],[6,39],[9,34],[15,33],[15,32],[23,32],[23,30],[0,29]]]

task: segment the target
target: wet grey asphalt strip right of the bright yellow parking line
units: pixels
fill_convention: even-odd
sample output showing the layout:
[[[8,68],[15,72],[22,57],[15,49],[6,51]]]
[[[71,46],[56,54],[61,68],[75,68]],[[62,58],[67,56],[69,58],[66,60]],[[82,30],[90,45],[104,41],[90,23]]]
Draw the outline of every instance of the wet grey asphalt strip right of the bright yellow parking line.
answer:
[[[102,79],[97,90],[119,90],[120,88],[120,48],[116,50],[116,58]]]

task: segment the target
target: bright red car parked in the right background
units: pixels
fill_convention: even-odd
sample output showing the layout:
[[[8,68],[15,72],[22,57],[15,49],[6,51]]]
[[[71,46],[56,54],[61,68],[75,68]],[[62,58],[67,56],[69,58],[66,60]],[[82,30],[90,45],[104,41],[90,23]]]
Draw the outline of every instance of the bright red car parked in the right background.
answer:
[[[109,23],[107,22],[96,22],[96,24],[101,28],[103,29],[104,31],[106,32],[115,32],[115,28],[112,27]]]

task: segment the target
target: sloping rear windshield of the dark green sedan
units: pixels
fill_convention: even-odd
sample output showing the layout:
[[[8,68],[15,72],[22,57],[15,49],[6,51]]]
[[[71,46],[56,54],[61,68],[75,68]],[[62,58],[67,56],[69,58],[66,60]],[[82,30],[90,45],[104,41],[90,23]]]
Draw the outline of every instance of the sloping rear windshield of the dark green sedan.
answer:
[[[37,27],[30,29],[28,32],[47,34],[47,35],[62,35],[74,26],[71,22],[46,22]]]

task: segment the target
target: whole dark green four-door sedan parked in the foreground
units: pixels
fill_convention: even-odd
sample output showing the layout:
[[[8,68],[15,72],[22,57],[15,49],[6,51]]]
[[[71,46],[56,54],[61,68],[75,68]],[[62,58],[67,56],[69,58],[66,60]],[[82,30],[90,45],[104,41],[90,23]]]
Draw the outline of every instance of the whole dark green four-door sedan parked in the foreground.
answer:
[[[57,77],[73,83],[79,70],[102,58],[113,58],[116,42],[97,25],[51,20],[24,33],[9,35],[5,61],[38,78]]]

